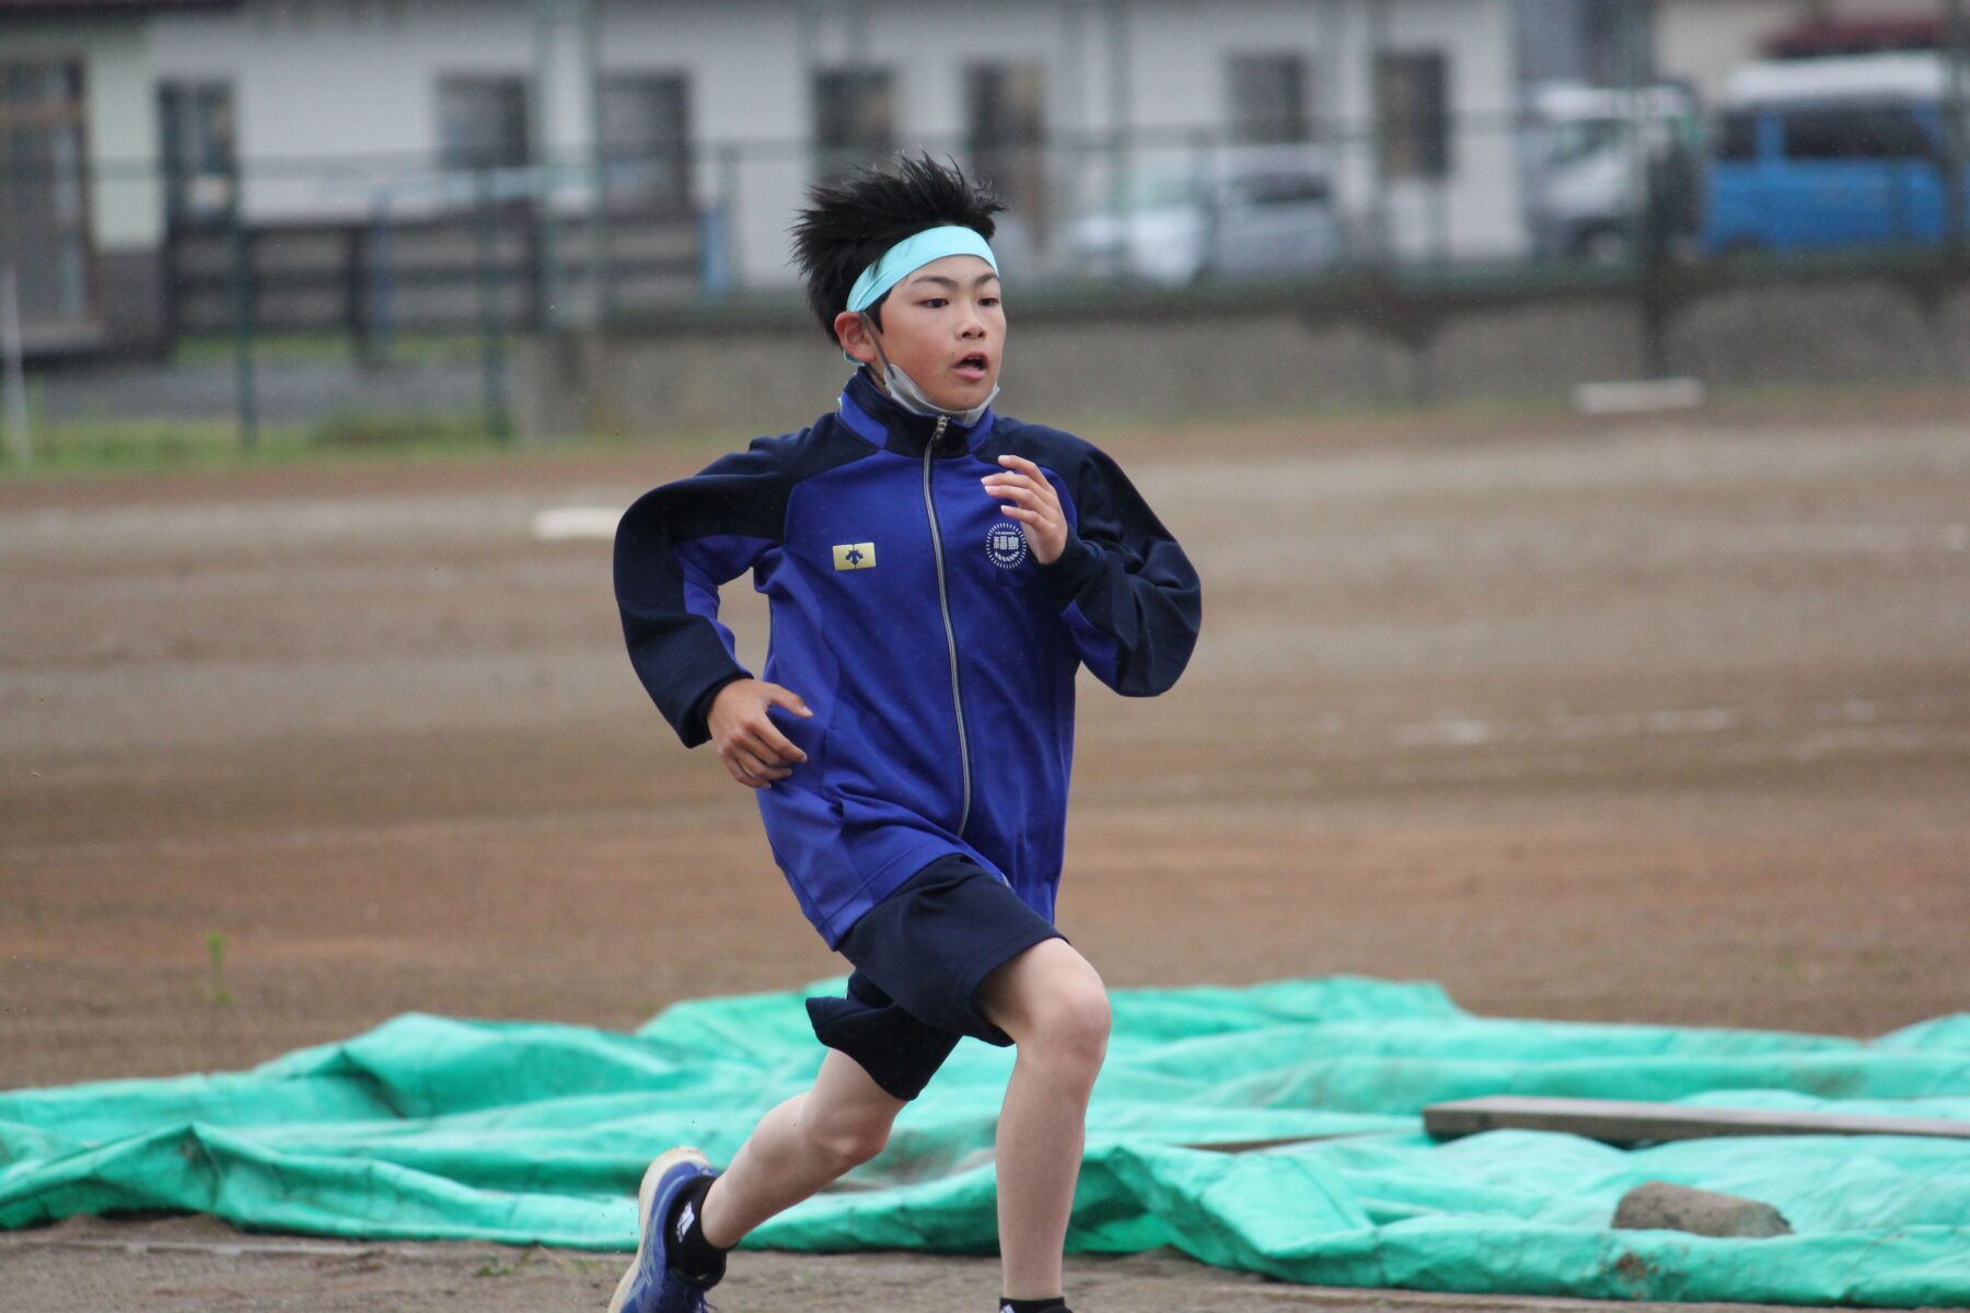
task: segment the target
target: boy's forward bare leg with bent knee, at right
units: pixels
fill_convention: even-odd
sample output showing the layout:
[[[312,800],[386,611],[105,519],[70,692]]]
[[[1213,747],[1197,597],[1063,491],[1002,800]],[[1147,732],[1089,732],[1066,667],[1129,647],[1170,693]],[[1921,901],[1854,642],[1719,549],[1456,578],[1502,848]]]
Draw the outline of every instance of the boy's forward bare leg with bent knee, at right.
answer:
[[[1018,1045],[999,1112],[1001,1293],[1048,1299],[1064,1293],[1087,1096],[1107,1055],[1107,990],[1066,939],[1048,939],[985,976],[979,1008]]]

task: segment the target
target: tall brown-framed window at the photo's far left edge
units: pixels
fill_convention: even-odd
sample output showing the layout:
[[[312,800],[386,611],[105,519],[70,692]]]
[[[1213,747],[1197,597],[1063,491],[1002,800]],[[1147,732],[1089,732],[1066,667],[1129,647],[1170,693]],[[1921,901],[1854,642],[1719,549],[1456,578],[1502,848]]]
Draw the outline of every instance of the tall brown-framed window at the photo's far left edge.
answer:
[[[79,63],[0,63],[0,264],[16,272],[30,327],[91,317],[83,142]]]

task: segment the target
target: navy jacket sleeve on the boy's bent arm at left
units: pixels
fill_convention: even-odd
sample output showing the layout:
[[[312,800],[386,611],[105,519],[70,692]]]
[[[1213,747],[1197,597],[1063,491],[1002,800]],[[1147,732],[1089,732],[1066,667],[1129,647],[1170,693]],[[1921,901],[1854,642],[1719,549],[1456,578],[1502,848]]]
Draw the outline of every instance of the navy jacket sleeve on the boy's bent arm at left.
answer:
[[[719,585],[780,541],[792,439],[760,439],[703,472],[646,492],[615,539],[628,659],[658,711],[695,748],[711,697],[747,671],[719,624]]]

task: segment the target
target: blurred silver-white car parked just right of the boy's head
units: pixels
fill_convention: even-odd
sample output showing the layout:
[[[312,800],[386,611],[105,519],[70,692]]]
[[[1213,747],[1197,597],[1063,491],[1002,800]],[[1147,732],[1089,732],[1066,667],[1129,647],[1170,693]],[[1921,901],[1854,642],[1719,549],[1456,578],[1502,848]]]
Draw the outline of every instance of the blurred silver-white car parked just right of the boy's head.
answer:
[[[1150,163],[1121,205],[1068,224],[1068,274],[1184,285],[1322,270],[1342,256],[1324,152],[1243,148]]]

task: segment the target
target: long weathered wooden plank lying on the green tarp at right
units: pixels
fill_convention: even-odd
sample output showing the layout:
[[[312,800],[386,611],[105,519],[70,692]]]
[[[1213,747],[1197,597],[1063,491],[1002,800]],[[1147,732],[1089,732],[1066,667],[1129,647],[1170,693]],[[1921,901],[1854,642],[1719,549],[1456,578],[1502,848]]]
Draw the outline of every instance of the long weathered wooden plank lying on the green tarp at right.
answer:
[[[1485,1130],[1556,1130],[1623,1146],[1716,1136],[1942,1136],[1970,1140],[1970,1122],[1942,1118],[1515,1094],[1430,1104],[1422,1110],[1422,1128],[1438,1140],[1476,1136]]]

